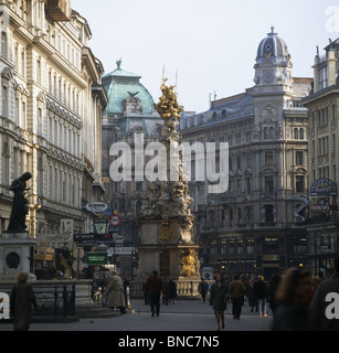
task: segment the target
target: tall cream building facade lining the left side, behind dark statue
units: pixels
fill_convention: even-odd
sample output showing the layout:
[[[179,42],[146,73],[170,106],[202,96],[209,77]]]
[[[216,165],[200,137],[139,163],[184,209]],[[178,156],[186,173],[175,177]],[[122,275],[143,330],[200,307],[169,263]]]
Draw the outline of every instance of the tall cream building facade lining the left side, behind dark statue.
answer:
[[[86,19],[70,1],[2,1],[0,11],[0,234],[10,218],[9,185],[30,171],[27,224],[39,242],[35,265],[66,270],[63,250],[93,223],[84,203],[104,193],[103,65],[88,47]]]

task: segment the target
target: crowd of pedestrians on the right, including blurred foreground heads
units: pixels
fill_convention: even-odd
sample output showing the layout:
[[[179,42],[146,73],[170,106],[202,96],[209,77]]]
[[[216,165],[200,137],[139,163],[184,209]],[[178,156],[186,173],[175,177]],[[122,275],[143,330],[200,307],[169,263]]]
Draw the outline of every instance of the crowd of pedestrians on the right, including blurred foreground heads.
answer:
[[[284,275],[272,276],[269,284],[259,276],[246,286],[237,276],[227,282],[218,274],[210,287],[202,280],[199,291],[203,302],[210,292],[218,331],[225,327],[227,303],[233,306],[233,319],[239,320],[245,299],[251,311],[259,317],[267,317],[269,306],[273,331],[339,331],[339,257],[333,261],[333,270],[331,277],[321,279],[301,268],[290,268]]]

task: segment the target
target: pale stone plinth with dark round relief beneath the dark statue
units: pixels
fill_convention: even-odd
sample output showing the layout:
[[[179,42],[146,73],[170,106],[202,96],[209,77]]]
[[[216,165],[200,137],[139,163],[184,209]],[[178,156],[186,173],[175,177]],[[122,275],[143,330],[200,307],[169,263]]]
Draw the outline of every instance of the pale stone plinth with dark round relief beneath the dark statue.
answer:
[[[30,280],[35,280],[32,264],[36,245],[28,233],[4,233],[0,238],[0,281],[15,280],[20,272],[28,272]]]

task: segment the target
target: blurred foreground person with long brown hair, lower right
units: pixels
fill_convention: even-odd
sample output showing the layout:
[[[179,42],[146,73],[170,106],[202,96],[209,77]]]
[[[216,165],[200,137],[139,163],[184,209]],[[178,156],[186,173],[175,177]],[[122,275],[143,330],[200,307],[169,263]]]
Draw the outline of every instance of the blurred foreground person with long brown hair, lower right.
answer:
[[[274,331],[309,330],[309,290],[308,271],[290,268],[285,272],[276,291]]]

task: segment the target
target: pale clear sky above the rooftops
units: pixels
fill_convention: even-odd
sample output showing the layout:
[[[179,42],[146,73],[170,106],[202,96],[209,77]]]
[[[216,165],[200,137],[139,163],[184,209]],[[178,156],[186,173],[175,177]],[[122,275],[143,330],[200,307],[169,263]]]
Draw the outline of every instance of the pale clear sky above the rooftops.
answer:
[[[275,32],[286,42],[294,77],[312,77],[316,47],[339,38],[338,0],[71,0],[88,21],[89,46],[105,68],[141,76],[161,96],[162,72],[177,83],[187,111],[202,113],[254,86],[259,42]]]

